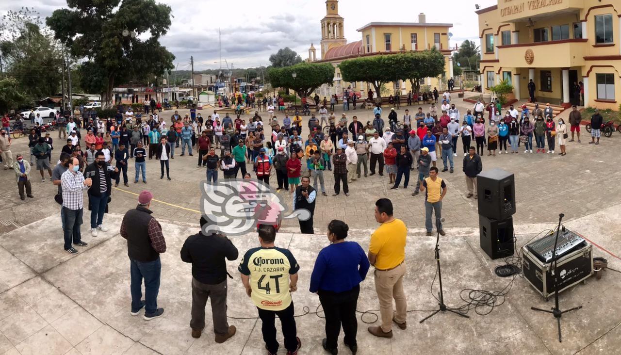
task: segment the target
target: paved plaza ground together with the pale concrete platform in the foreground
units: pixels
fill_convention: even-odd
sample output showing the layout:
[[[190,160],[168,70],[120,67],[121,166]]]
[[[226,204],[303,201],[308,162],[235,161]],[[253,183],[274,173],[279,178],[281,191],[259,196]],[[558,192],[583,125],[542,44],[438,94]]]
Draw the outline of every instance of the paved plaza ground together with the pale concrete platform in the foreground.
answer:
[[[465,112],[471,104],[456,103]],[[403,107],[402,107],[403,109]],[[415,107],[410,107],[410,111]],[[399,110],[402,115],[403,110]],[[384,109],[386,112],[386,109]],[[181,110],[184,114],[184,111]],[[337,110],[337,117],[340,110]],[[171,111],[163,115],[166,119]],[[358,114],[362,122],[371,119],[369,110]],[[207,112],[202,112],[207,116]],[[387,114],[384,113],[384,119]],[[249,117],[249,116],[247,116]],[[282,120],[283,115],[279,115]],[[265,116],[264,116],[265,120]],[[304,117],[304,124],[307,117]],[[268,135],[270,132],[266,132]],[[52,137],[57,137],[54,133]],[[595,256],[609,259],[610,267],[621,269],[621,190],[619,148],[621,136],[615,133],[603,138],[599,146],[568,143],[566,156],[542,154],[483,156],[484,169],[503,168],[515,174],[517,213],[514,215],[517,246],[542,230],[553,228],[558,213],[566,215],[566,226],[576,230],[601,248],[594,246]],[[57,142],[57,158],[63,143]],[[25,138],[16,140],[14,155],[26,151]],[[458,150],[459,152],[459,150]],[[264,353],[260,322],[256,309],[245,296],[237,263],[229,263],[229,320],[238,333],[224,344],[216,344],[211,322],[204,335],[191,338],[189,317],[191,304],[190,267],[179,259],[179,249],[186,236],[198,230],[199,181],[204,169],[196,168],[197,156],[178,156],[171,161],[173,181],[160,180],[159,163],[148,161],[148,184],[133,184],[130,164],[130,186],[114,189],[111,214],[104,223],[108,233],[92,238],[83,226],[89,246],[70,256],[61,249],[62,231],[58,205],[53,201],[55,187],[40,182],[32,173],[35,199],[19,200],[12,171],[0,171],[0,354],[194,354]],[[449,192],[443,204],[447,235],[441,239],[443,281],[449,305],[461,305],[461,289],[502,290],[509,280],[500,279],[493,269],[502,261],[491,261],[479,248],[476,200],[466,199],[466,186],[461,173],[461,159],[456,158],[454,174],[443,173]],[[438,166],[442,166],[438,162]],[[333,179],[326,172],[327,191]],[[47,177],[47,175],[46,175]],[[272,179],[275,182],[275,178]],[[145,322],[129,315],[129,263],[125,242],[118,231],[122,214],[135,206],[142,189],[153,192],[153,215],[162,221],[168,251],[162,256],[161,307],[165,317]],[[589,279],[561,294],[561,308],[583,305],[579,311],[563,316],[563,343],[556,340],[553,317],[530,310],[530,306],[547,308],[551,302],[517,277],[505,302],[486,316],[474,310],[469,320],[451,314],[437,315],[419,325],[418,321],[436,307],[430,294],[435,272],[433,243],[424,236],[422,196],[410,196],[407,190],[389,190],[388,177],[359,179],[350,185],[350,196],[318,197],[315,209],[315,231],[324,233],[332,218],[345,220],[351,228],[351,240],[368,249],[368,236],[377,223],[373,204],[379,197],[389,197],[395,215],[407,223],[407,276],[409,326],[395,331],[392,339],[372,338],[366,322],[374,323],[371,314],[358,314],[360,354],[614,354],[621,347],[621,275],[607,272],[597,281]],[[288,199],[289,200],[289,199]],[[289,201],[289,207],[291,202]],[[86,218],[88,220],[88,212]],[[327,245],[322,235],[299,235],[297,222],[284,222],[276,245],[289,247],[301,265],[299,289],[293,295],[299,336],[300,354],[321,354],[324,321],[314,314],[319,300],[308,290],[314,259]],[[240,251],[256,245],[256,237],[233,239]],[[604,251],[604,249],[606,251]],[[437,284],[434,285],[437,291]],[[209,308],[209,307],[207,307]],[[358,310],[375,310],[373,274],[361,285]],[[210,318],[209,309],[207,319]],[[374,312],[378,313],[378,312]],[[321,315],[321,313],[320,313]],[[237,319],[243,318],[243,319]],[[450,336],[447,336],[450,335]],[[282,340],[282,339],[280,339]],[[281,350],[282,351],[282,350]],[[348,350],[340,343],[340,351]]]

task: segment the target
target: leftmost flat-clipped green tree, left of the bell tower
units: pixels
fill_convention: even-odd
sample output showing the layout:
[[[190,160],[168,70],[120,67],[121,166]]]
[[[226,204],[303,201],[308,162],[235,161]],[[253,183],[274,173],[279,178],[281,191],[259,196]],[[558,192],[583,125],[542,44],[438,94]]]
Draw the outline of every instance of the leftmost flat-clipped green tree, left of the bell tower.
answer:
[[[322,84],[332,84],[334,79],[334,67],[330,63],[299,63],[270,68],[268,73],[273,88],[292,89],[300,97],[309,96]],[[296,78],[293,78],[293,73],[296,73]]]

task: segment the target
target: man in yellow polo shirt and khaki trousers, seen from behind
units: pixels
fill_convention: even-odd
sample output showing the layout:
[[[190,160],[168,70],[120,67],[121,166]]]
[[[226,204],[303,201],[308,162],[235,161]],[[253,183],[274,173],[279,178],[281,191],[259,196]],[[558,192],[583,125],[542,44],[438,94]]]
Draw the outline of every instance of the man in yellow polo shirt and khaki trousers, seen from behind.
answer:
[[[406,294],[403,292],[403,276],[406,274],[406,224],[392,217],[392,202],[379,199],[375,202],[375,220],[381,223],[371,235],[369,263],[375,267],[375,290],[378,293],[381,326],[369,326],[369,333],[392,338],[392,322],[405,330]],[[392,315],[392,299],[397,313]]]

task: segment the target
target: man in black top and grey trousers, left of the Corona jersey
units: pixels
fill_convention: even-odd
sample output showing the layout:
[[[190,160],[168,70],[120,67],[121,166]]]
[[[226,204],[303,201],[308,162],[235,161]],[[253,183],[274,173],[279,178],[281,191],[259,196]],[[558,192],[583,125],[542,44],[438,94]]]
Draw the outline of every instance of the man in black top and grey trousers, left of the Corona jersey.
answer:
[[[201,228],[207,224],[201,217]],[[200,338],[205,328],[205,305],[211,297],[215,342],[224,343],[235,335],[235,326],[227,321],[227,272],[226,259],[236,260],[237,248],[224,235],[202,230],[191,235],[181,248],[181,260],[192,264],[192,337]]]

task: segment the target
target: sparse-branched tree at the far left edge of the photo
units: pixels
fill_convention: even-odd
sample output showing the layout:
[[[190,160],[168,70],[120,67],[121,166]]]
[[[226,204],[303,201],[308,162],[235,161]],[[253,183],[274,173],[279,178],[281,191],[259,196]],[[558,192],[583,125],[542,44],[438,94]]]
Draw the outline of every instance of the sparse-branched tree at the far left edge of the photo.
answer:
[[[58,43],[42,30],[39,13],[28,7],[8,11],[0,24],[0,60],[33,101],[58,94],[62,59]]]

